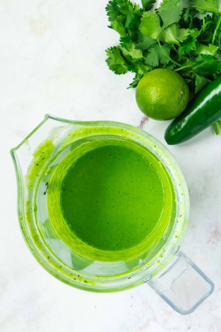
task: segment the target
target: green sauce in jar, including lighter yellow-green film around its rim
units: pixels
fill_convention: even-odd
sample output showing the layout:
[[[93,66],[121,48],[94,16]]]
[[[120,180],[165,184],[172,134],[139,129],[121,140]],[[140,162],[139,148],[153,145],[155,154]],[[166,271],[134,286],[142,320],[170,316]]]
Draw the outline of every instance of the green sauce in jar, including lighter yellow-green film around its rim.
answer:
[[[121,260],[160,240],[172,196],[156,156],[133,141],[111,139],[71,152],[59,164],[50,180],[48,209],[56,233],[75,252]]]

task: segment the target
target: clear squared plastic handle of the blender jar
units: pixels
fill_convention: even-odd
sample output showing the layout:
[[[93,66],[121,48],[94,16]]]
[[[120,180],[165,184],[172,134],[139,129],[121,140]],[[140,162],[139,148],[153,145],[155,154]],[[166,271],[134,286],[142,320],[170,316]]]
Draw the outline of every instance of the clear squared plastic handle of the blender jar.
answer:
[[[192,313],[214,290],[213,282],[181,250],[146,284],[182,315]]]

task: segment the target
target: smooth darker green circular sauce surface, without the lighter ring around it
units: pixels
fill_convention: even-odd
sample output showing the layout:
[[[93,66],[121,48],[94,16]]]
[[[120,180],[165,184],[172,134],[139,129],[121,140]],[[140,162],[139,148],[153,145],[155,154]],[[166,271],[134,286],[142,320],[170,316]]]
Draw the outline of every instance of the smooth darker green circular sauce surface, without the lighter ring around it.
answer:
[[[106,145],[80,157],[64,179],[61,203],[70,229],[102,250],[138,245],[164,208],[161,177],[133,148]]]

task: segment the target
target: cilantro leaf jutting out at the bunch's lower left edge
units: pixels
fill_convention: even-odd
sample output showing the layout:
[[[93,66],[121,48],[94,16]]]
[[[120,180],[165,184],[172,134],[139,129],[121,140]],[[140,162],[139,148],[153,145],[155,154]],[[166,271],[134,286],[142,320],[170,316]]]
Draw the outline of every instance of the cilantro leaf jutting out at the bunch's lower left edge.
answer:
[[[128,64],[121,55],[120,49],[117,46],[106,49],[108,58],[106,62],[110,70],[114,71],[115,74],[125,74],[128,72]]]

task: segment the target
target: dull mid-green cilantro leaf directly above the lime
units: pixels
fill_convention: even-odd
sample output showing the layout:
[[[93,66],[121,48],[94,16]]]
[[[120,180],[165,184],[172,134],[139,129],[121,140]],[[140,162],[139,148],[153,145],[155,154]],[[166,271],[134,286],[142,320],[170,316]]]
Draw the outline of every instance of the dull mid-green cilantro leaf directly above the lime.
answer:
[[[162,46],[162,48],[167,55],[170,54],[170,46]],[[144,57],[144,62],[152,67],[158,67],[159,63],[164,66],[170,62],[164,52],[158,44],[155,44],[149,49],[149,52]]]

